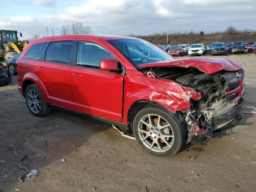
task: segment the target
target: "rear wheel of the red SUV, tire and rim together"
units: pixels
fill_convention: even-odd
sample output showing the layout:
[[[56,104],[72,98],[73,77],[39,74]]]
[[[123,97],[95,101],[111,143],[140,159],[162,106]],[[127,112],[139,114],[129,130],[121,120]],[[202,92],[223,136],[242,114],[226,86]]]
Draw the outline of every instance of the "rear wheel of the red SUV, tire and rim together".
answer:
[[[31,95],[34,98],[32,98]],[[35,97],[35,95],[37,96]],[[46,102],[44,102],[42,93],[36,84],[31,84],[26,88],[25,98],[28,109],[34,116],[42,117],[51,112],[51,108],[46,104]],[[35,102],[38,101],[40,103],[35,105]]]

